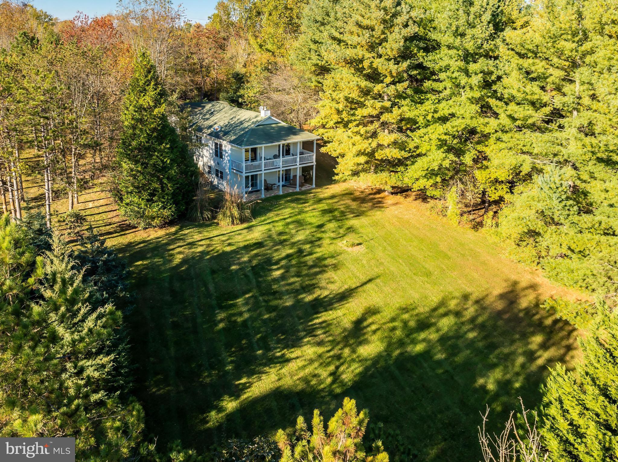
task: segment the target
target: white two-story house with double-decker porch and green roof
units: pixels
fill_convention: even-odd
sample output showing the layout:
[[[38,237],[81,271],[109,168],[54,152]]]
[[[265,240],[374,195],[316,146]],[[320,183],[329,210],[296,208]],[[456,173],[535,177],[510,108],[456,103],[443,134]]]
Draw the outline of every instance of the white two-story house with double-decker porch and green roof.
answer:
[[[225,101],[185,104],[197,143],[195,160],[219,189],[265,197],[315,188],[319,136],[271,117],[270,111],[240,109]]]

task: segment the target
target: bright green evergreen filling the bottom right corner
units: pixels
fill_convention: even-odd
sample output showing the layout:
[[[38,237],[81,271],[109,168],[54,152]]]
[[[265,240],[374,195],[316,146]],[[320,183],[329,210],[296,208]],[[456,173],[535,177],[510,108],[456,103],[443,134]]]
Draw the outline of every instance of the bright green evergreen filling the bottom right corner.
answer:
[[[543,387],[544,443],[555,462],[618,460],[618,313],[581,340],[574,372],[557,366]]]

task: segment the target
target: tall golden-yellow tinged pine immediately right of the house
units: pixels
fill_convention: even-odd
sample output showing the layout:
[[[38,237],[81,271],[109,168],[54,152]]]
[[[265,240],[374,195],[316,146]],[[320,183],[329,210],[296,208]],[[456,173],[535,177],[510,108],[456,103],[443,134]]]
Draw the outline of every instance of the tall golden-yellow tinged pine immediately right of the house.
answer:
[[[411,113],[425,77],[422,14],[393,0],[313,1],[305,21],[303,59],[321,85],[314,123],[337,157],[339,178],[391,183],[412,149]]]

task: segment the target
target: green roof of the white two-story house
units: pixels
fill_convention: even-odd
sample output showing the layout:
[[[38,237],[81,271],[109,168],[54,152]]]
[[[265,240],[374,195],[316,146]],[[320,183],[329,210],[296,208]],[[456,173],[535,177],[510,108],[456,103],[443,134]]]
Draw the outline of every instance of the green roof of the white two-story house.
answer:
[[[259,112],[234,107],[225,101],[189,102],[184,104],[184,107],[190,109],[191,130],[222,139],[235,146],[260,146],[320,138],[287,123],[258,125],[268,117],[262,117]],[[219,126],[220,130],[214,130],[216,126]]]

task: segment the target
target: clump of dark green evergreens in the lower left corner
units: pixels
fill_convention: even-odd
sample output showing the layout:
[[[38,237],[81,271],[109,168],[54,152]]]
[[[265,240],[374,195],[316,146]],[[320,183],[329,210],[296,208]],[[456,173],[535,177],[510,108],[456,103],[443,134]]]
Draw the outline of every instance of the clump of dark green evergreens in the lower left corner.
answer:
[[[64,245],[36,256],[32,234],[8,215],[0,270],[0,435],[74,436],[78,460],[142,452],[143,410],[122,397],[117,377],[121,313],[88,302]]]

